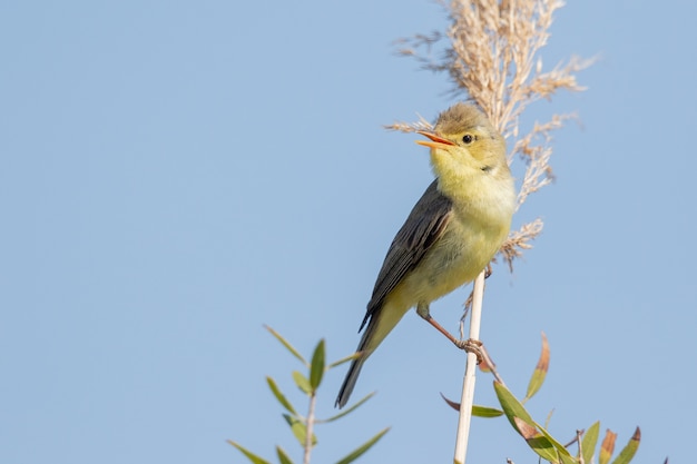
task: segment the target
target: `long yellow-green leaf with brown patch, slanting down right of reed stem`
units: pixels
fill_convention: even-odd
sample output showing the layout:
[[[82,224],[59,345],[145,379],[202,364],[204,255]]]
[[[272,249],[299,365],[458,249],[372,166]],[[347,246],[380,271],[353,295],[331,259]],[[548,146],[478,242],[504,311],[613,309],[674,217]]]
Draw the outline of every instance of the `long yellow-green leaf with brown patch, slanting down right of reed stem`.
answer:
[[[513,427],[516,427],[518,433],[526,438],[536,453],[546,453],[546,455],[540,454],[540,456],[551,462],[559,461],[559,458],[557,458],[557,453],[561,457],[571,457],[569,451],[561,443],[552,437],[549,432],[544,430],[544,427],[532,419],[532,416],[530,416],[523,405],[503,384],[494,382],[493,388],[509,422],[513,425]],[[533,434],[531,430],[521,431],[519,424],[527,424],[529,427],[534,430],[536,433]],[[537,433],[542,435],[542,437],[538,437]],[[549,450],[550,447],[556,451],[556,453],[553,453],[554,457],[551,460],[549,458],[549,453],[551,453],[551,450]]]

